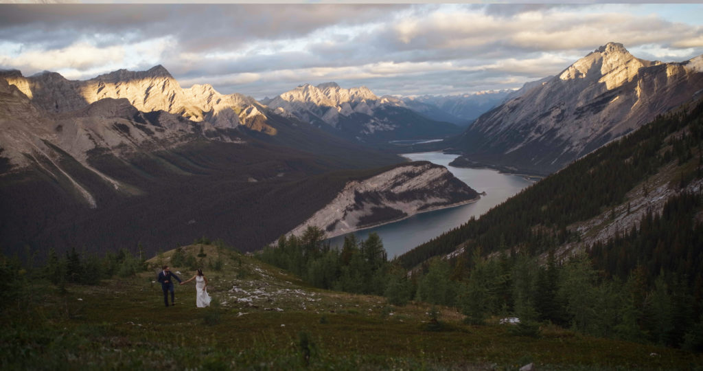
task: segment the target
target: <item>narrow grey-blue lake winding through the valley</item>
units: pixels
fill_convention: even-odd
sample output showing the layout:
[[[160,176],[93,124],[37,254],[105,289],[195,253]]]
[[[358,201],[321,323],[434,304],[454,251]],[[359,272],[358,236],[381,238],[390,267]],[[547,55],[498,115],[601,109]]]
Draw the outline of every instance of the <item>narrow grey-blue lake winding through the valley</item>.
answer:
[[[517,175],[501,174],[491,169],[454,168],[449,163],[458,155],[441,152],[407,153],[402,155],[412,161],[430,161],[443,165],[462,182],[477,192],[486,192],[485,196],[475,203],[445,208],[413,215],[410,218],[379,227],[362,229],[355,232],[357,239],[366,239],[372,232],[378,233],[383,241],[388,258],[399,256],[415,246],[430,241],[434,237],[462,225],[472,216],[479,218],[492,207],[514,196],[534,182]],[[344,236],[330,239],[332,246],[342,247]]]

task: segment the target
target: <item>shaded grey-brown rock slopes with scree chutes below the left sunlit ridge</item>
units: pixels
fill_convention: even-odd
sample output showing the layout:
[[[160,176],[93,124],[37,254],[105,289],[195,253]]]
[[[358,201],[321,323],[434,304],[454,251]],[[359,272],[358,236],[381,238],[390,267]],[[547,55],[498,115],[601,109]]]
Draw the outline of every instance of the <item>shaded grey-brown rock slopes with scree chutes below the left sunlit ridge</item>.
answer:
[[[97,175],[116,191],[128,191],[119,180],[94,168],[91,153],[127,158],[140,151],[167,149],[200,137],[196,122],[165,111],[143,113],[127,99],[101,99],[76,111],[47,113],[15,85],[0,79],[0,148],[8,168],[39,168],[54,180],[70,184],[91,208],[91,191],[71,175],[67,158]],[[236,139],[217,138],[227,142]],[[129,191],[128,191],[129,193]]]

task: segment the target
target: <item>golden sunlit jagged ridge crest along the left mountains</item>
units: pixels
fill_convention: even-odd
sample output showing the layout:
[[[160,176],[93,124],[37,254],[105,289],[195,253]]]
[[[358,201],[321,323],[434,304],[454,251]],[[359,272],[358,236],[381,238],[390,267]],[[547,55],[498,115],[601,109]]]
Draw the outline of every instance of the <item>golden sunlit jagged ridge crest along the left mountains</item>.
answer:
[[[202,122],[203,130],[245,125],[276,134],[266,125],[262,106],[254,99],[219,94],[207,84],[182,89],[162,65],[146,71],[117,70],[85,81],[66,80],[49,72],[24,77],[17,70],[0,72],[1,77],[49,113],[76,111],[101,99],[127,99],[142,112],[166,111]]]

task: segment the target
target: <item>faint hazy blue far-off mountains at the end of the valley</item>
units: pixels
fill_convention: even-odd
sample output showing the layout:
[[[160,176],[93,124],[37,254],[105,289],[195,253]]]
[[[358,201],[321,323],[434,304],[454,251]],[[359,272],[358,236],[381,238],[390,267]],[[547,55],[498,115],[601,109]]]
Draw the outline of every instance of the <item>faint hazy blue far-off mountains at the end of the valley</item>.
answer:
[[[446,96],[423,95],[404,97],[403,102],[408,108],[427,117],[436,118],[436,120],[441,118],[460,126],[467,126],[486,111],[503,103],[505,97],[511,93],[511,90],[500,90]]]

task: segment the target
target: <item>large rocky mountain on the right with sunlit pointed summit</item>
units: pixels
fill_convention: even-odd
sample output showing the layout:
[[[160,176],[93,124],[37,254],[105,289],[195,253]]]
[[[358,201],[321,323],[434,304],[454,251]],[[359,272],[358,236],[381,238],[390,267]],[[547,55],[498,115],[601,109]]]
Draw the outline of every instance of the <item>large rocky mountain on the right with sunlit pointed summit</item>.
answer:
[[[546,175],[703,89],[703,56],[645,61],[609,43],[485,113],[451,146],[465,163]]]

